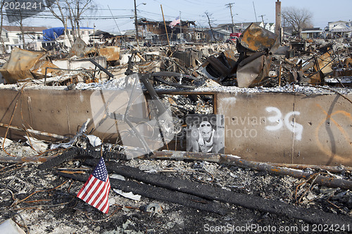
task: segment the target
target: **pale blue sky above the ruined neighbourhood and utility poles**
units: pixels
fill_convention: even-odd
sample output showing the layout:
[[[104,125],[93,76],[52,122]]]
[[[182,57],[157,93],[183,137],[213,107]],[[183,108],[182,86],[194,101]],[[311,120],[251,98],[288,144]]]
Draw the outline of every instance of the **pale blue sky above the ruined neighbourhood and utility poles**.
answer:
[[[233,3],[232,13],[234,22],[253,22],[261,21],[263,15],[264,22],[275,22],[275,1],[276,0],[136,0],[138,11],[137,15],[149,20],[163,20],[161,14],[161,5],[165,20],[174,20],[181,13],[182,20],[195,20],[197,26],[208,27],[208,20],[205,12],[212,14],[211,20],[213,25],[222,23],[231,23],[230,8],[226,4]],[[86,16],[95,15],[96,17],[120,18],[106,20],[84,20],[82,26],[93,27],[107,32],[118,32],[134,29],[134,0],[95,0],[98,11],[86,14]],[[146,5],[144,5],[145,3]],[[253,7],[254,4],[254,7]],[[295,6],[296,8],[306,8],[313,15],[312,22],[315,27],[324,28],[327,22],[352,20],[352,0],[282,0],[282,8]],[[111,11],[109,11],[109,9]],[[254,12],[256,9],[256,13]],[[46,13],[48,14],[48,13]],[[27,26],[46,26],[61,27],[61,22],[51,19],[31,18],[25,20]]]

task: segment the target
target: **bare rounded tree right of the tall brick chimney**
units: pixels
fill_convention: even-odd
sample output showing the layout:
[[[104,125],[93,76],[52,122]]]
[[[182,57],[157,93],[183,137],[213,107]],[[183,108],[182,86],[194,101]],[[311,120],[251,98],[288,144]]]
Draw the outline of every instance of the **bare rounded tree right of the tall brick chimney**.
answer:
[[[287,22],[293,29],[293,32],[301,38],[301,32],[304,27],[311,25],[311,19],[313,13],[308,11],[306,8],[296,8],[289,6],[283,9],[282,18],[284,22]]]

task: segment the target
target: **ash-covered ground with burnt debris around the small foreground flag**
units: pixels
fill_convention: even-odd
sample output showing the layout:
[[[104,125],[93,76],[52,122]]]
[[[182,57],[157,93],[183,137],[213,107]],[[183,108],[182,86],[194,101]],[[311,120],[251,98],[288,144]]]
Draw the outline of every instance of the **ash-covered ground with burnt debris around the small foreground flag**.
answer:
[[[9,153],[36,155],[36,152],[30,150],[32,149],[24,143],[12,142],[6,147],[6,152]],[[1,152],[1,156],[5,155]],[[143,196],[139,201],[130,200],[112,189],[109,193],[110,211],[103,214],[75,197],[84,182],[56,175],[56,171],[62,170],[91,174],[93,169],[85,166],[83,161],[84,159],[75,159],[46,170],[38,169],[41,162],[1,163],[0,223],[13,219],[26,233],[313,232],[312,223],[228,203],[219,202],[229,211],[220,215]],[[352,213],[352,193],[349,190],[318,186],[291,176],[272,176],[266,172],[199,161],[134,159],[122,161],[122,164],[148,173],[164,174],[234,193],[306,207],[307,212],[310,208],[318,208],[343,216],[351,216]],[[328,174],[327,171],[308,171]],[[112,174],[109,173],[110,176]],[[330,176],[349,180],[351,171]],[[162,211],[145,212],[144,207],[149,204],[160,205]],[[310,228],[308,231],[305,229],[307,227]],[[316,230],[318,228],[315,226]],[[346,226],[345,230],[340,229],[338,233],[346,233],[348,228],[352,227]]]

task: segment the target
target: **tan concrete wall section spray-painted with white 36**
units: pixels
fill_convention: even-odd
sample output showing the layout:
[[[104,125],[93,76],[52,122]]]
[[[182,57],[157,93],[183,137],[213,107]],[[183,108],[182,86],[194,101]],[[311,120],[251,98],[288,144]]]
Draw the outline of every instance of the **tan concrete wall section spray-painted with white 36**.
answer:
[[[225,115],[225,153],[259,162],[352,165],[352,104],[337,94],[218,93],[217,103]]]

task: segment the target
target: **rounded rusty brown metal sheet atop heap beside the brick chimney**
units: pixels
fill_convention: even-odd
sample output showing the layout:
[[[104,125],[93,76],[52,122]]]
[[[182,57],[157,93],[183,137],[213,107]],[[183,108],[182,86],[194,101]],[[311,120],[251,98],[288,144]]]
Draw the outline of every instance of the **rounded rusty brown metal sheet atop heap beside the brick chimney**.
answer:
[[[240,44],[251,51],[262,51],[278,46],[277,35],[254,23],[241,34]]]

